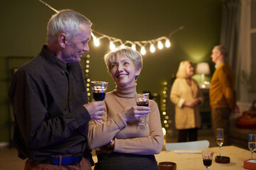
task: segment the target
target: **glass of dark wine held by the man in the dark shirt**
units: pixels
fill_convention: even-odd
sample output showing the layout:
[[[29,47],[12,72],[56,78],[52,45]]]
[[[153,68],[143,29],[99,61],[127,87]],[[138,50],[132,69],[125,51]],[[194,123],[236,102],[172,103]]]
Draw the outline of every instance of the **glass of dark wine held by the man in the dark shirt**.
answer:
[[[106,96],[106,89],[108,89],[108,82],[91,81],[91,86],[94,101],[103,101]]]

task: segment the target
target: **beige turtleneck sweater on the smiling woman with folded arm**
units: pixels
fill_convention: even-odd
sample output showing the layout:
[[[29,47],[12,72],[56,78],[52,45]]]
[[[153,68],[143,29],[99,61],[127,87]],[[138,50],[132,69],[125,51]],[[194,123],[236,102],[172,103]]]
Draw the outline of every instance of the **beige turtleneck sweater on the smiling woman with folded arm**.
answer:
[[[116,90],[106,94],[106,110],[102,116],[104,124],[95,125],[94,120],[89,123],[88,145],[96,149],[96,154],[110,152],[106,148],[114,139],[111,152],[130,154],[159,154],[162,150],[163,133],[160,112],[155,101],[150,100],[150,113],[147,120],[149,125],[138,125],[141,120],[126,121],[123,110],[128,106],[136,106],[134,95],[136,85],[127,87],[116,86]],[[100,147],[100,148],[99,148]]]

